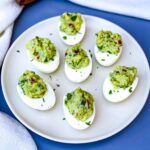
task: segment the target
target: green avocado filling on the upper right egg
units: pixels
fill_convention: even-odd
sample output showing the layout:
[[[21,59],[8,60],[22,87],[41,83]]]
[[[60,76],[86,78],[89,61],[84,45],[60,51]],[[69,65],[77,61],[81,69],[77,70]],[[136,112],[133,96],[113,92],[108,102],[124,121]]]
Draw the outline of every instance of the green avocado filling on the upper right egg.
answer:
[[[122,38],[118,33],[100,31],[96,37],[96,45],[102,53],[118,54],[122,46]]]

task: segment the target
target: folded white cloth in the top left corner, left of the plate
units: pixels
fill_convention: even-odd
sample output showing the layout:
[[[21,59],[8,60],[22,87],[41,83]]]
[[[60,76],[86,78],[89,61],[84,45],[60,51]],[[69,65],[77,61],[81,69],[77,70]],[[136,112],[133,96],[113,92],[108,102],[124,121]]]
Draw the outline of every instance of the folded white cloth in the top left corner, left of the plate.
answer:
[[[15,0],[0,0],[0,65],[10,44],[13,22],[22,9]]]

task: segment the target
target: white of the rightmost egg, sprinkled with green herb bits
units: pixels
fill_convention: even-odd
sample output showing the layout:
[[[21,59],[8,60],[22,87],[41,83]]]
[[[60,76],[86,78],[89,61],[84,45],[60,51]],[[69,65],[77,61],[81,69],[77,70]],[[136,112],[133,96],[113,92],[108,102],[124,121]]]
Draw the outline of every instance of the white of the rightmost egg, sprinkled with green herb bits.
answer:
[[[118,88],[114,90],[114,86],[110,81],[110,77],[108,76],[103,84],[103,95],[104,97],[113,103],[121,102],[125,99],[127,99],[136,89],[138,84],[138,77],[134,79],[134,82],[132,85],[128,88]],[[132,92],[129,92],[129,89],[132,87]],[[110,94],[111,90],[111,94]]]

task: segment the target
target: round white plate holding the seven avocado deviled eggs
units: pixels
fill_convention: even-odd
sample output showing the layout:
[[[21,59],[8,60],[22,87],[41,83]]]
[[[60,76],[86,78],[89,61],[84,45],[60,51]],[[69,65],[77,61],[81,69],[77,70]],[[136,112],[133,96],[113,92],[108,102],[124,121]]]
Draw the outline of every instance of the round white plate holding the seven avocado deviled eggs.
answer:
[[[121,131],[129,125],[143,108],[150,88],[149,65],[138,43],[125,30],[101,18],[84,16],[87,22],[87,32],[82,41],[82,47],[93,53],[95,33],[99,30],[112,30],[123,37],[123,53],[115,65],[136,66],[138,68],[139,84],[135,92],[126,101],[112,104],[102,95],[102,85],[112,67],[101,67],[93,57],[93,75],[82,84],[70,82],[64,74],[64,58],[67,46],[60,40],[58,33],[59,17],[40,22],[25,31],[11,46],[2,68],[2,89],[6,101],[15,116],[33,132],[64,143],[88,143],[102,140]],[[61,54],[61,64],[52,79],[39,73],[56,89],[57,103],[52,110],[41,112],[26,106],[20,99],[16,85],[19,75],[32,67],[25,44],[34,36],[49,37]],[[143,37],[144,38],[144,37]],[[20,50],[20,53],[16,52]],[[37,71],[38,72],[38,71]],[[60,87],[57,87],[59,84]],[[93,94],[96,101],[96,118],[90,128],[76,131],[63,120],[63,95],[68,91],[81,87]]]

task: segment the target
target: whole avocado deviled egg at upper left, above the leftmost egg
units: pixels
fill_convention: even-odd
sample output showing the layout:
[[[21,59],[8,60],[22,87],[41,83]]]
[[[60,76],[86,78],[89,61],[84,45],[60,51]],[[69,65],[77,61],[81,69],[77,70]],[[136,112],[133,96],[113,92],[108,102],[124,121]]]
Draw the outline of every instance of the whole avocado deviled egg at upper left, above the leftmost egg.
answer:
[[[31,63],[41,72],[52,73],[59,66],[59,52],[48,38],[36,36],[27,45]]]

